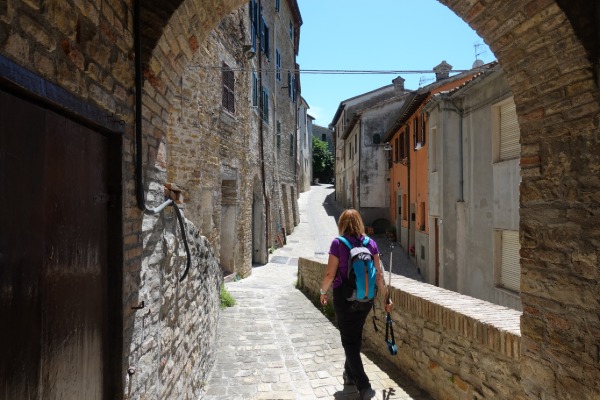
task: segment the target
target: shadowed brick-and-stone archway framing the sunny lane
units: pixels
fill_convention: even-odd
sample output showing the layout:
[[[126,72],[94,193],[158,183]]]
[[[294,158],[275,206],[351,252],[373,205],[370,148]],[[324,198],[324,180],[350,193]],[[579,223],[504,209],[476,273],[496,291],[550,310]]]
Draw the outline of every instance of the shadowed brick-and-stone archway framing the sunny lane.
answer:
[[[199,43],[245,2],[176,1],[165,8],[163,1],[145,1],[145,101],[173,101],[167,88],[176,87]],[[596,47],[589,21],[579,18],[594,16],[565,13],[562,1],[553,0],[440,2],[489,44],[517,105],[524,391],[531,398],[566,398],[577,382],[579,397],[589,398],[600,392],[594,343],[600,332],[600,103],[597,54],[590,50]],[[168,115],[146,119],[162,140]]]

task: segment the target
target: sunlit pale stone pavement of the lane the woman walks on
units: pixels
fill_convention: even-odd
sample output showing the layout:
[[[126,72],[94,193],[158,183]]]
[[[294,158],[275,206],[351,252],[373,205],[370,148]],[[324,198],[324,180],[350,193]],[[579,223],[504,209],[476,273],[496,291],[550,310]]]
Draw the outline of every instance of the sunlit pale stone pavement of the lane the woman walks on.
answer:
[[[356,387],[343,385],[337,328],[295,288],[298,257],[326,260],[337,235],[332,193],[326,185],[302,193],[300,224],[286,246],[250,277],[226,283],[236,305],[221,312],[216,361],[203,399],[358,399]],[[402,262],[400,251],[396,257],[394,250],[394,272]],[[377,399],[430,399],[374,354],[364,352],[363,362]]]

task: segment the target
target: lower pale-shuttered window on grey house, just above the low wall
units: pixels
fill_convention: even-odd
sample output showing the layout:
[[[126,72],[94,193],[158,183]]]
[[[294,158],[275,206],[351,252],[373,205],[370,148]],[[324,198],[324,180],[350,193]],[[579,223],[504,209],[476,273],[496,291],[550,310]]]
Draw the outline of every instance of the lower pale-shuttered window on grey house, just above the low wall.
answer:
[[[494,265],[499,287],[520,292],[521,290],[521,257],[519,251],[519,231],[495,231]]]

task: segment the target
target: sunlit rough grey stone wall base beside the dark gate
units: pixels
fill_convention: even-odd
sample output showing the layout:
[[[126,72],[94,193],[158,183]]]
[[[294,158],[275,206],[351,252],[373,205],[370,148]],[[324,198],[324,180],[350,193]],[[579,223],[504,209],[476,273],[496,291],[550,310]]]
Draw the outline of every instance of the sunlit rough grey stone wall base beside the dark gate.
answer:
[[[171,207],[146,215],[143,231],[141,270],[125,282],[131,290],[139,287],[130,304],[145,304],[125,309],[126,398],[197,399],[216,355],[221,268],[208,240],[188,221],[192,263],[180,282],[187,256]]]

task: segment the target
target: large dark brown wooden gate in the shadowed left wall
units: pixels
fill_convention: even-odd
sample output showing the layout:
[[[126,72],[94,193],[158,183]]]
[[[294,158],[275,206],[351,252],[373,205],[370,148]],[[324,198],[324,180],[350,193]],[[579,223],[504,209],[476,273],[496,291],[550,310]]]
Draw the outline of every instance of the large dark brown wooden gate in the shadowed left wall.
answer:
[[[0,399],[112,396],[115,152],[110,135],[0,90]]]

